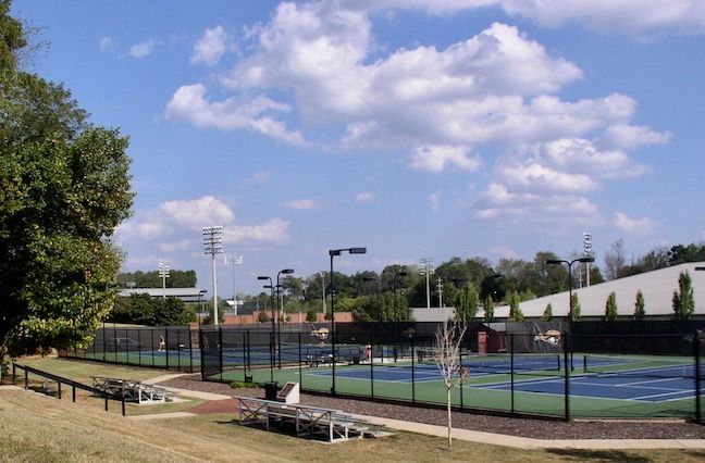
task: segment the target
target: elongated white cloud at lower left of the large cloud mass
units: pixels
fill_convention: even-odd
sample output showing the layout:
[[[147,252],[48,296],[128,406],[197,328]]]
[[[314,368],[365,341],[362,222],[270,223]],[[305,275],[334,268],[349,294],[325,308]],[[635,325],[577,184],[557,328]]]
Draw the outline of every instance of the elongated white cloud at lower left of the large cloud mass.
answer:
[[[286,124],[271,115],[288,112],[289,107],[269,98],[250,100],[228,98],[221,102],[206,100],[202,84],[180,87],[166,104],[166,116],[188,121],[199,127],[218,127],[225,130],[247,128],[282,139],[290,145],[305,145],[298,132],[288,132]]]

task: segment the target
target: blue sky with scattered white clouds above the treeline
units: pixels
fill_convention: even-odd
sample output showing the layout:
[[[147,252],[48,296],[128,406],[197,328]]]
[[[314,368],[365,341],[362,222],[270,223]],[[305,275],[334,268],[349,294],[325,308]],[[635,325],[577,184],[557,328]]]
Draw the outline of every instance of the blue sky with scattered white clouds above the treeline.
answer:
[[[15,0],[28,68],[129,136],[124,271],[452,256],[601,264],[705,240],[701,0]]]

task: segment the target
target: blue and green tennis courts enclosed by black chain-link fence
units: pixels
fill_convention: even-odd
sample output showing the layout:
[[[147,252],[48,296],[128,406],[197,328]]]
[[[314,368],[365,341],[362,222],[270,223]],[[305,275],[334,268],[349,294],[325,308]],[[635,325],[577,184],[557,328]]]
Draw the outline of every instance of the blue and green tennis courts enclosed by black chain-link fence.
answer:
[[[510,414],[700,420],[702,331],[567,334],[559,323],[471,323],[444,351],[437,323],[243,328],[107,325],[84,350],[102,362],[200,370],[205,380],[299,383],[302,391]],[[610,328],[613,329],[613,328]],[[455,365],[455,366],[454,366]]]

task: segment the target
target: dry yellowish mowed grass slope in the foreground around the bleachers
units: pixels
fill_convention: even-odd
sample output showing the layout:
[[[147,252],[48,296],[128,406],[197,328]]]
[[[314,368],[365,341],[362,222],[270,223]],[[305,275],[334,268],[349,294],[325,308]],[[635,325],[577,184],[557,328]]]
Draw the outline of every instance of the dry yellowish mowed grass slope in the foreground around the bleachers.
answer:
[[[26,362],[29,363],[29,362]],[[75,368],[76,375],[94,374],[106,365],[60,360],[41,361],[45,370]],[[32,362],[34,366],[35,362]],[[55,366],[55,368],[52,368]],[[125,373],[129,368],[121,367]],[[129,372],[127,372],[128,374]],[[136,368],[135,375],[145,371]],[[158,372],[161,374],[162,372]],[[95,373],[97,374],[97,373]],[[114,375],[119,376],[119,375]],[[132,378],[137,379],[138,376]],[[76,378],[77,379],[77,378]],[[144,377],[141,379],[145,379]],[[705,450],[521,450],[474,442],[397,433],[380,439],[335,445],[298,439],[237,425],[233,415],[134,421],[106,413],[101,401],[88,405],[25,391],[0,391],[0,461],[12,462],[375,462],[375,461],[675,461],[705,459]],[[158,412],[159,408],[153,411]],[[129,412],[128,412],[129,415]]]

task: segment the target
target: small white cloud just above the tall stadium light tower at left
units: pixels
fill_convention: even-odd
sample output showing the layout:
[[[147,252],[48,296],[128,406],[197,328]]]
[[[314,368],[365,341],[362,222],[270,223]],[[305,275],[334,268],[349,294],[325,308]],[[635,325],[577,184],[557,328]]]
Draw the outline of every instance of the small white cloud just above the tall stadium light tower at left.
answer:
[[[162,203],[160,209],[175,224],[190,227],[223,225],[234,218],[233,211],[212,196],[196,200],[169,201]]]

